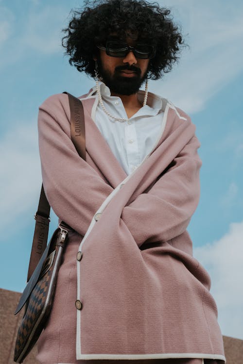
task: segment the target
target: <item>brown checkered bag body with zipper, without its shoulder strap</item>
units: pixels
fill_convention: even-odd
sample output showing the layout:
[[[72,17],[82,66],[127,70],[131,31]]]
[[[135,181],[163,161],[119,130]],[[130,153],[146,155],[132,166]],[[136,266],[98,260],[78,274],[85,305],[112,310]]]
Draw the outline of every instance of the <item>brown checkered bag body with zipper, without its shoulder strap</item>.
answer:
[[[33,348],[51,312],[58,269],[67,241],[68,231],[59,224],[25,288],[31,290],[31,293],[26,300],[24,315],[17,332],[14,354],[16,363],[22,363]],[[15,314],[19,310],[17,308]]]

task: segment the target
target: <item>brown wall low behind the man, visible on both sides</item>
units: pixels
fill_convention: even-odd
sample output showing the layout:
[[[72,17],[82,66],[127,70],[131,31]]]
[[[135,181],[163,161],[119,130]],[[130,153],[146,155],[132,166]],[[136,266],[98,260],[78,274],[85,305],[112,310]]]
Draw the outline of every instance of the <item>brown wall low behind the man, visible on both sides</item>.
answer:
[[[14,315],[21,293],[0,288],[0,364],[14,364],[14,347],[17,328],[23,309]],[[223,336],[226,364],[243,364],[243,340]],[[38,364],[35,360],[36,346],[23,364]]]

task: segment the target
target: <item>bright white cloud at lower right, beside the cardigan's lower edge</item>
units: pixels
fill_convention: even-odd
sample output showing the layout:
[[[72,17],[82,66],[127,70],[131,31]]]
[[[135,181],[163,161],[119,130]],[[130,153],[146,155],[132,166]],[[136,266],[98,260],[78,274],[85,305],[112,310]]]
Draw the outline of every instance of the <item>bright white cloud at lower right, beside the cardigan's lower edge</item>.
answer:
[[[194,256],[211,277],[223,335],[243,339],[243,221],[231,223],[218,241],[194,248]]]

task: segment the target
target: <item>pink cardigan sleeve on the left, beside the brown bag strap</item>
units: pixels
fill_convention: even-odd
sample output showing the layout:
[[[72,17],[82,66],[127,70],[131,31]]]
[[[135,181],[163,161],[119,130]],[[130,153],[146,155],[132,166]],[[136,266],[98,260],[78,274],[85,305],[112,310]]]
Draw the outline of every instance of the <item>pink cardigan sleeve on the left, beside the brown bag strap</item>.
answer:
[[[67,95],[52,95],[40,105],[41,172],[44,190],[54,213],[84,236],[93,215],[113,188],[77,153],[70,138],[69,120]]]

